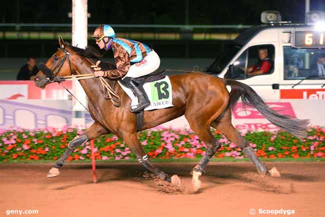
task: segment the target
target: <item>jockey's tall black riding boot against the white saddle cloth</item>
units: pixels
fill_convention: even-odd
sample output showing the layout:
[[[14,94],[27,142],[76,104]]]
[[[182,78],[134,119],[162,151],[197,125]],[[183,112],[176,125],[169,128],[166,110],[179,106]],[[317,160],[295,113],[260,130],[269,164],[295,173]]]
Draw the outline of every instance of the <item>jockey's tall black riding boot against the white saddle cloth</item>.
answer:
[[[139,85],[129,77],[124,78],[122,81],[133,92],[139,102],[136,107],[134,106],[133,108],[130,108],[131,112],[139,112],[150,105],[150,100],[148,99],[142,85]]]

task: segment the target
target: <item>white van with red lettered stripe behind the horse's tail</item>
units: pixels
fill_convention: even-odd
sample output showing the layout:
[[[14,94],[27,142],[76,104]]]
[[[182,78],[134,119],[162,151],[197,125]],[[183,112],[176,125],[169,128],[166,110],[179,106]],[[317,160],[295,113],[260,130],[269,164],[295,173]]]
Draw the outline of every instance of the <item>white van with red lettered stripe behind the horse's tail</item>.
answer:
[[[253,26],[207,72],[240,80],[268,99],[325,99],[325,22]]]

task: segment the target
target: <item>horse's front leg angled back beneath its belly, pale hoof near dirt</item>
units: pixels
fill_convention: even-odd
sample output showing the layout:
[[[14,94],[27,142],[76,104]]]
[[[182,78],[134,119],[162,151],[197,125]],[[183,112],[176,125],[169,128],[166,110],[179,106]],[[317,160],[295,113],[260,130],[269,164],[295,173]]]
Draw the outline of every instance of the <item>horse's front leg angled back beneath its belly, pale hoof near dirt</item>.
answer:
[[[151,164],[151,162],[148,159],[148,155],[146,155],[142,145],[139,142],[139,139],[137,138],[136,132],[123,133],[120,136],[122,137],[125,144],[127,144],[130,147],[130,149],[135,154],[137,160],[144,168],[150,170],[153,174],[155,174],[162,180],[167,181],[174,186],[177,187],[180,186],[180,179],[177,175],[173,175],[170,177],[167,173],[163,172],[162,170],[156,168]]]

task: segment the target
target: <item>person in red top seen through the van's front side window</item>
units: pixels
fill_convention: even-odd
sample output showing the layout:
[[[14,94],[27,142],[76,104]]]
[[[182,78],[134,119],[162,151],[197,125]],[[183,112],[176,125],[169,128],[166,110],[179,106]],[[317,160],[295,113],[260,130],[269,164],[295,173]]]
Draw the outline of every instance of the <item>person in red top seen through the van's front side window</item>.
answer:
[[[258,61],[247,69],[247,75],[261,75],[269,73],[272,68],[270,58],[267,57],[267,49],[258,49]]]

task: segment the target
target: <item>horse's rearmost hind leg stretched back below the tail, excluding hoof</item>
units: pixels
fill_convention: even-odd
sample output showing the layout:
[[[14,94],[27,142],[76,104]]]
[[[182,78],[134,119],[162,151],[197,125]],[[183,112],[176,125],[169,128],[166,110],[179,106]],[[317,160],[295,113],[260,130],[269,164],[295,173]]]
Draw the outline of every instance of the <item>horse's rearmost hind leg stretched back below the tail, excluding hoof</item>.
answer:
[[[257,171],[264,175],[267,172],[267,169],[264,164],[260,162],[258,157],[255,155],[254,150],[249,146],[249,143],[246,139],[244,139],[240,133],[233,127],[231,124],[231,112],[230,110],[226,110],[222,117],[218,120],[213,121],[211,126],[221,133],[223,133],[230,141],[238,145],[238,147],[242,150],[244,154],[246,154],[253,164],[256,166]]]

